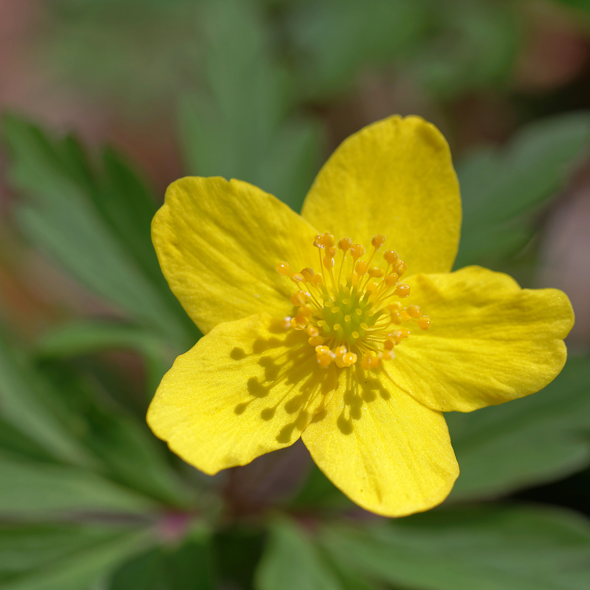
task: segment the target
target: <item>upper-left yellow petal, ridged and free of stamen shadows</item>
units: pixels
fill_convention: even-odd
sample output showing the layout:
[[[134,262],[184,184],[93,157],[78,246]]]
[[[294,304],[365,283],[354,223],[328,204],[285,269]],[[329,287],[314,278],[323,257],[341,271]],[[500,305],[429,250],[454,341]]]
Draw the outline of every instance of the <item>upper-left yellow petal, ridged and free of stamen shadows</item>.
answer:
[[[173,182],[152,222],[166,280],[203,333],[254,313],[289,314],[294,284],[276,266],[315,263],[316,233],[273,195],[223,178]]]

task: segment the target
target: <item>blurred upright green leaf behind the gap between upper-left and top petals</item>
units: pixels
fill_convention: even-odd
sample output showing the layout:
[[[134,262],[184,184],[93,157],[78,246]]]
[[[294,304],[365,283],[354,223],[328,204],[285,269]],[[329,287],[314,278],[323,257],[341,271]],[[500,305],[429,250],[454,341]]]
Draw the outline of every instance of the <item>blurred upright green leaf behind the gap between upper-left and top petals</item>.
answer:
[[[251,182],[299,211],[323,134],[291,114],[290,80],[271,61],[254,4],[206,3],[202,35],[207,92],[187,94],[179,110],[189,172]]]

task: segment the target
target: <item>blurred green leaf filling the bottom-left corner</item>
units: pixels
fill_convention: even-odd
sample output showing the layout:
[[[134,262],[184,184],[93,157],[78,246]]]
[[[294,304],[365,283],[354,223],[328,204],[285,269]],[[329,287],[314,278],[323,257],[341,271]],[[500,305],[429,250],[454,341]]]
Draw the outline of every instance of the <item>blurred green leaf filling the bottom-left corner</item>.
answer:
[[[0,584],[4,590],[87,590],[148,542],[148,533],[132,527],[0,526]]]

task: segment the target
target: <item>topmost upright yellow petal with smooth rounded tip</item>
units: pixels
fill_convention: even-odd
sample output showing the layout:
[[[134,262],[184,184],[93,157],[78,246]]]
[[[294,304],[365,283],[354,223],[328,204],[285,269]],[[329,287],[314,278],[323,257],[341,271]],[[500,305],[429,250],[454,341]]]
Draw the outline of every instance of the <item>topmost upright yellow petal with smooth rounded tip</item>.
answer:
[[[447,142],[420,117],[373,123],[336,149],[301,215],[319,231],[365,246],[385,234],[385,248],[398,251],[412,273],[449,271],[461,199]]]

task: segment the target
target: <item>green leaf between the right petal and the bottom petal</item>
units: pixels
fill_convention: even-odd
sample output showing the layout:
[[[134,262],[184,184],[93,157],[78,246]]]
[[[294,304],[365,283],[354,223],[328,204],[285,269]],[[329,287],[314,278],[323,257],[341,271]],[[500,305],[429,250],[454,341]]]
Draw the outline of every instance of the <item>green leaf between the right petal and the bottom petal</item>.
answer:
[[[545,389],[470,414],[448,412],[461,474],[452,498],[489,497],[590,463],[590,358],[571,356]]]

